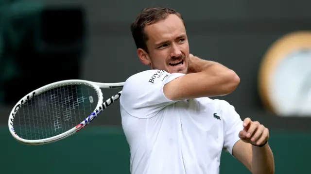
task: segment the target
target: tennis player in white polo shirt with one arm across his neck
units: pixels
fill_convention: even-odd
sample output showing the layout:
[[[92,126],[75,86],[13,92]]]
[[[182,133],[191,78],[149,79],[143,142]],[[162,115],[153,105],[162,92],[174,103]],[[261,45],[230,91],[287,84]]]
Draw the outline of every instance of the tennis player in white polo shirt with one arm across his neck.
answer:
[[[151,67],[128,78],[120,98],[131,173],[219,174],[225,149],[253,174],[274,174],[268,128],[208,98],[230,94],[240,79],[190,54],[182,16],[146,8],[131,31],[140,61]]]

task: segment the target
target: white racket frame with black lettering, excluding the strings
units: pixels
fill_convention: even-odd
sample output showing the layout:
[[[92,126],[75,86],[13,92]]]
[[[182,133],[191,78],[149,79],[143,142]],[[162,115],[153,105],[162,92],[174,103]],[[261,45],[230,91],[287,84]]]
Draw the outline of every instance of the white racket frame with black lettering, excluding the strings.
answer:
[[[96,83],[96,82],[91,82],[91,81],[87,81],[87,80],[80,80],[80,79],[70,79],[70,80],[62,80],[62,81],[57,81],[54,83],[50,83],[47,84],[45,86],[42,86],[34,91],[32,91],[31,93],[25,95],[24,97],[22,97],[17,104],[14,106],[14,108],[12,109],[12,111],[10,112],[9,115],[9,120],[8,120],[8,127],[9,127],[9,131],[11,133],[11,135],[18,141],[24,144],[28,144],[28,145],[41,145],[41,144],[47,144],[47,143],[51,143],[51,142],[56,142],[59,141],[61,139],[64,139],[72,134],[74,134],[75,132],[81,130],[82,128],[86,127],[86,125],[88,123],[90,123],[99,113],[101,113],[106,107],[108,107],[109,101],[113,102],[117,99],[119,99],[119,97],[121,96],[121,92],[119,92],[117,95],[112,96],[111,98],[109,98],[107,101],[103,101],[103,93],[102,90],[100,88],[121,88],[123,87],[124,82],[121,83]],[[26,139],[22,139],[20,138],[17,133],[14,130],[14,118],[15,118],[15,114],[17,113],[18,109],[27,102],[27,100],[31,100],[35,95],[39,95],[41,93],[44,93],[48,90],[51,90],[53,88],[56,87],[62,87],[62,86],[66,86],[66,85],[88,85],[90,87],[92,87],[93,89],[96,90],[97,95],[98,95],[98,101],[97,101],[97,106],[95,111],[93,111],[84,121],[82,121],[79,125],[77,125],[76,127],[73,127],[71,129],[69,129],[66,132],[63,132],[59,135],[50,137],[50,138],[45,138],[45,139],[41,139],[41,140],[26,140]]]

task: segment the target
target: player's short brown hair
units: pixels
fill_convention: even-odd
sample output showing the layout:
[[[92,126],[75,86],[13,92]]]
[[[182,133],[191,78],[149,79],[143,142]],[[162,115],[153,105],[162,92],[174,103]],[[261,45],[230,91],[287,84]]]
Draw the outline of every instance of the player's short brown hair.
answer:
[[[184,22],[181,14],[176,12],[172,8],[154,7],[154,8],[143,9],[140,12],[140,14],[138,14],[135,21],[131,24],[131,32],[132,32],[132,36],[134,38],[136,47],[141,48],[145,50],[146,52],[148,52],[147,45],[146,45],[148,36],[145,33],[145,27],[147,25],[154,24],[160,20],[164,20],[171,14],[177,15]]]

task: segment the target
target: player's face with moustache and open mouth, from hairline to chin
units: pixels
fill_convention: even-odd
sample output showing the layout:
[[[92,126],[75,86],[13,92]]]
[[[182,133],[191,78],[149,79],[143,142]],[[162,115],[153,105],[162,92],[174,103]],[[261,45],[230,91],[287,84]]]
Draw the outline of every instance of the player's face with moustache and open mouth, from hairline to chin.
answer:
[[[176,15],[145,27],[149,64],[152,69],[187,73],[189,43],[183,21]]]

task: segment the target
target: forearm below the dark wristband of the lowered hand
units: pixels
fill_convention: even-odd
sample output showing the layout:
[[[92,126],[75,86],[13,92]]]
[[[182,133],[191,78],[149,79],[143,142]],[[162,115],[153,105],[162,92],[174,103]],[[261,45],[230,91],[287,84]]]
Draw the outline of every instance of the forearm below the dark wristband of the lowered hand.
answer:
[[[274,174],[274,158],[269,144],[262,147],[252,145],[252,173],[253,174]]]

